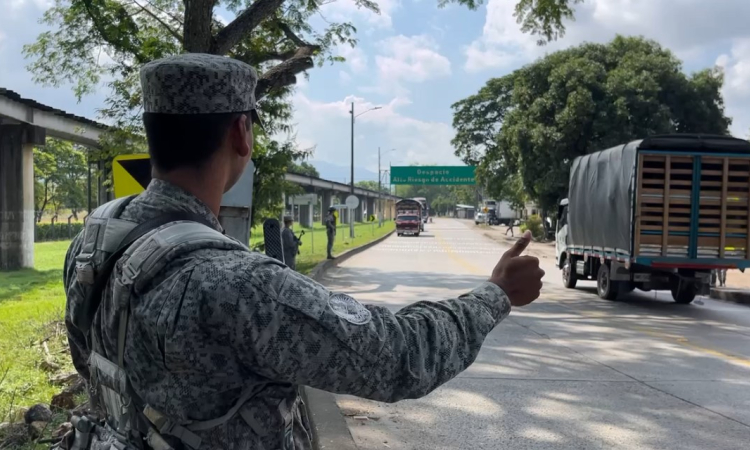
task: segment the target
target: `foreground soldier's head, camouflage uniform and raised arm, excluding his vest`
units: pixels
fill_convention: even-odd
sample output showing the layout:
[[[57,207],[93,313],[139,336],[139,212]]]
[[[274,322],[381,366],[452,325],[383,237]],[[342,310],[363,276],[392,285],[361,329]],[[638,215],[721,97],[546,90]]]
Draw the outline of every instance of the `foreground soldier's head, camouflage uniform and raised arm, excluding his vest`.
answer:
[[[184,54],[146,64],[141,83],[154,179],[120,218],[187,211],[221,231],[222,194],[252,155],[255,71]],[[539,261],[520,256],[529,239],[471,292],[397,313],[332,293],[262,254],[188,245],[134,291],[124,369],[137,396],[174,423],[216,419],[241,403],[196,431],[199,449],[310,449],[300,386],[385,402],[427,395],[474,361],[511,306],[539,296]],[[88,379],[91,336],[75,325],[81,246],[79,235],[66,255],[66,326]],[[122,270],[118,263],[110,280]],[[117,311],[105,289],[91,333],[108,359],[118,353]]]

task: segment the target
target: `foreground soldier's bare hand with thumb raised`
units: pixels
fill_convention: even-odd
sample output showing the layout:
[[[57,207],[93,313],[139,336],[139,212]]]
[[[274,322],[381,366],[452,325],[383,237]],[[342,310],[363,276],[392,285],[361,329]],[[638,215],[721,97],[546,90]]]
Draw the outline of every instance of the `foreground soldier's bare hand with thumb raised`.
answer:
[[[531,242],[531,232],[526,231],[513,247],[503,254],[492,270],[489,281],[500,286],[513,306],[524,306],[539,298],[544,270],[539,259],[521,256]]]

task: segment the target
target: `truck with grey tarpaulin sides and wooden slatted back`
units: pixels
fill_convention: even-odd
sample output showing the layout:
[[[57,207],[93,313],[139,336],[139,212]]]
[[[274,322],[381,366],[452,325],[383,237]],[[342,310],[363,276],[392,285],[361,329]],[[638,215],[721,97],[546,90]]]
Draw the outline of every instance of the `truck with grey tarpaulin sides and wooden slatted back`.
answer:
[[[727,136],[653,136],[580,156],[558,209],[563,283],[597,293],[669,290],[690,303],[711,270],[750,266],[750,143]]]

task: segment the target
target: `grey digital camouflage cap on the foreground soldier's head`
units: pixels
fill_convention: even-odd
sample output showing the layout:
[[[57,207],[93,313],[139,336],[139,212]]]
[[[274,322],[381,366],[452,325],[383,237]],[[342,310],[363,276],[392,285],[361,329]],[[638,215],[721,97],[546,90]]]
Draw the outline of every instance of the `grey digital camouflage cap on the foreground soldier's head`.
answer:
[[[248,64],[225,56],[184,53],[141,68],[143,111],[160,114],[250,112],[260,124],[255,103],[258,74]]]

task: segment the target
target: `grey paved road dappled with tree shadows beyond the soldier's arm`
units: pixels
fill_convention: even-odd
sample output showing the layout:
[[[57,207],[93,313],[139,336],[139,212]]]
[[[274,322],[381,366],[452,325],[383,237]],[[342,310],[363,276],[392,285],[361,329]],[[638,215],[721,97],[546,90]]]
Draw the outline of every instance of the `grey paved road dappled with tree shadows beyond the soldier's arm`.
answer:
[[[469,221],[426,227],[350,258],[323,282],[395,311],[466,292],[506,249]],[[565,289],[553,260],[542,266],[542,297],[514,309],[458,378],[396,404],[337,396],[358,447],[748,448],[750,308],[638,291],[608,302],[592,283]]]

